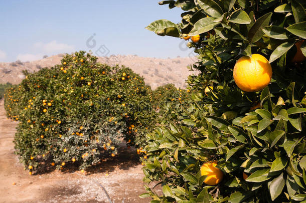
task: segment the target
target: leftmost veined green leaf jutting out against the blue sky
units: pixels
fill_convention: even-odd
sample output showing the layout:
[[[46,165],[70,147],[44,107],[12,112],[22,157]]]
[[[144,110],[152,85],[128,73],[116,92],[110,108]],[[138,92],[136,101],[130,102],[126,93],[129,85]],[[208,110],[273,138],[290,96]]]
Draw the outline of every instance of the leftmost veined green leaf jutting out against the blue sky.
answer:
[[[148,25],[145,29],[155,32],[160,36],[180,37],[181,30],[171,21],[162,19]]]

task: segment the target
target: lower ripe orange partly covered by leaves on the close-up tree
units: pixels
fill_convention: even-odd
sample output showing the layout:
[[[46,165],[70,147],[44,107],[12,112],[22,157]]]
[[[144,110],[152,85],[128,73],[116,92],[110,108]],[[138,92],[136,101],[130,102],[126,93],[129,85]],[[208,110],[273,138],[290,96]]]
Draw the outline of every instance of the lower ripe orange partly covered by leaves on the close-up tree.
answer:
[[[223,179],[223,172],[216,168],[217,161],[206,162],[201,166],[201,175],[206,175],[204,182],[208,185],[216,185]]]

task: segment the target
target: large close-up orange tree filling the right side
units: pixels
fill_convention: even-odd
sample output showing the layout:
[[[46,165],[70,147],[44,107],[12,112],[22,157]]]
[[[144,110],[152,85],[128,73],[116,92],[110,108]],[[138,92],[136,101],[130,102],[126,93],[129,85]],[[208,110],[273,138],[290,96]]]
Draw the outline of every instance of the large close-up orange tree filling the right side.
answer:
[[[178,0],[182,22],[147,29],[190,40],[188,123],[147,135],[152,202],[306,202],[306,2]],[[205,90],[206,89],[206,90]],[[208,91],[209,90],[209,91]]]

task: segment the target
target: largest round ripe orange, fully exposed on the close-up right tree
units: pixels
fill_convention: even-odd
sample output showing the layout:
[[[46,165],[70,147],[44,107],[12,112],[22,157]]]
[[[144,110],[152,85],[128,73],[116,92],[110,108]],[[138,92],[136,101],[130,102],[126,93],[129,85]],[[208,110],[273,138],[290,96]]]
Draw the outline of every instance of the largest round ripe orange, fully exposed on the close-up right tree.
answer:
[[[272,68],[269,61],[260,54],[243,56],[235,64],[233,76],[236,85],[245,92],[256,92],[271,81]]]

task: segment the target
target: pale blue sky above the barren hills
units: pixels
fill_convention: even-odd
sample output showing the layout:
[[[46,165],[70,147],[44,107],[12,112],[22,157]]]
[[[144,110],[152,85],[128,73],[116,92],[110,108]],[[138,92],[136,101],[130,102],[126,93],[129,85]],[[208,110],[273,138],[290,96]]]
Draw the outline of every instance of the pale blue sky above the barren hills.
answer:
[[[159,19],[180,21],[182,10],[169,10],[158,2],[1,1],[0,61],[31,61],[78,50],[91,50],[100,56],[188,56],[191,50],[185,49],[181,39],[160,37],[144,29]]]

